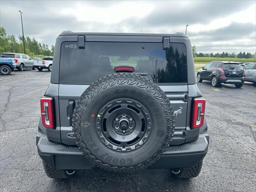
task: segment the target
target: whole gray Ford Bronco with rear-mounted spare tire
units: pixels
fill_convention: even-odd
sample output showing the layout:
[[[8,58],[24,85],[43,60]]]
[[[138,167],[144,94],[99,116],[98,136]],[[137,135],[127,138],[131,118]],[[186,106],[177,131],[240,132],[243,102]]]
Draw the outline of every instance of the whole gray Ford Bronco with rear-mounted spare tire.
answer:
[[[40,100],[46,175],[150,168],[196,177],[209,144],[205,102],[186,35],[64,31]]]

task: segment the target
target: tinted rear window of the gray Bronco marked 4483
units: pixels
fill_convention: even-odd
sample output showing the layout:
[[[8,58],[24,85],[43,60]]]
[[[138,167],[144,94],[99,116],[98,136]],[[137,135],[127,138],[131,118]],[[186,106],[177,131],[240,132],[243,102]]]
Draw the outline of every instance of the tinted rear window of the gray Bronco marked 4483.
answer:
[[[188,82],[185,44],[163,50],[162,43],[141,42],[85,42],[84,49],[78,42],[63,42],[59,82],[92,83],[115,73],[116,66],[132,66],[157,83]]]

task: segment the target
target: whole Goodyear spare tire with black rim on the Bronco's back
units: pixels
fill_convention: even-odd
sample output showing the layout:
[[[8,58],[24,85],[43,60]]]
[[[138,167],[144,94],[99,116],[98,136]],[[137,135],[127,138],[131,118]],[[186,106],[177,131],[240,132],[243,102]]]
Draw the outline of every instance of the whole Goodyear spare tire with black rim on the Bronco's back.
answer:
[[[174,132],[174,112],[161,88],[132,73],[104,76],[78,100],[73,132],[83,154],[105,170],[151,166]]]

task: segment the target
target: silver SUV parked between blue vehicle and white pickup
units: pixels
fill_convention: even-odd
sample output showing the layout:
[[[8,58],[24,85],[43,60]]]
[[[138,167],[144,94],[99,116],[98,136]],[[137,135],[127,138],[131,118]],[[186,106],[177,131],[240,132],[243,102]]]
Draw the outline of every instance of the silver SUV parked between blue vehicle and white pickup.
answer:
[[[1,53],[0,57],[8,58],[14,60],[16,69],[23,71],[24,68],[32,68],[35,69],[33,66],[34,60],[30,58],[30,56],[22,53]]]

